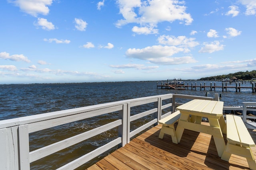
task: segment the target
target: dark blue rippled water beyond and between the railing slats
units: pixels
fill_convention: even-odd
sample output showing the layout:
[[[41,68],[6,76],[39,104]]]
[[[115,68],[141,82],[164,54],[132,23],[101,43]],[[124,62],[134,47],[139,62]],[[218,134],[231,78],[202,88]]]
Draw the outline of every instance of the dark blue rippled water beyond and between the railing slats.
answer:
[[[193,81],[188,83],[189,85],[191,85],[191,83],[195,84]],[[204,84],[204,82],[197,81],[197,85],[200,85],[200,83]],[[160,84],[161,82],[159,81],[158,85]],[[187,84],[187,81],[185,81],[185,84]],[[212,84],[214,84],[214,82],[212,82]],[[206,82],[206,85],[210,85],[210,82]],[[222,86],[221,82],[216,82],[216,86]],[[235,86],[235,84],[228,84],[228,86]],[[246,82],[246,84],[241,84],[241,86],[251,86],[251,84]],[[207,94],[208,97],[213,97],[214,94],[218,93],[222,96],[220,100],[224,101],[224,106],[242,106],[242,102],[256,101],[256,93],[252,93],[250,88],[241,89],[241,92],[237,93],[234,88],[228,88],[227,92],[222,92],[222,88],[216,88],[216,90],[212,91],[210,91],[210,88],[206,88],[206,90],[202,91],[200,91],[200,88],[196,90],[191,90],[191,88],[188,88],[189,90],[157,89],[156,81],[2,84],[0,88],[0,120],[168,93],[194,96],[206,96]],[[31,133],[30,151],[106,124],[117,119],[116,117],[117,113],[111,113]],[[147,120],[144,118],[140,121],[146,122]],[[68,147],[68,149],[61,150],[51,156],[32,162],[30,165],[31,169],[56,169],[90,152],[92,149],[96,149],[108,143],[108,141],[116,137],[117,129],[102,133],[94,138]],[[112,150],[109,152],[111,151]],[[108,153],[99,156],[78,169],[87,168]]]

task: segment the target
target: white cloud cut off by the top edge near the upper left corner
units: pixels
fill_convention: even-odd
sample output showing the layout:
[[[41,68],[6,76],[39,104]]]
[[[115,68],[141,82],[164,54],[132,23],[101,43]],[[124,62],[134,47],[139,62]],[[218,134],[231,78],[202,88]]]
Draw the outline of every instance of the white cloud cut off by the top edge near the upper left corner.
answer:
[[[52,4],[52,0],[9,0],[8,2],[18,6],[22,12],[37,17],[38,14],[47,15],[49,8]]]

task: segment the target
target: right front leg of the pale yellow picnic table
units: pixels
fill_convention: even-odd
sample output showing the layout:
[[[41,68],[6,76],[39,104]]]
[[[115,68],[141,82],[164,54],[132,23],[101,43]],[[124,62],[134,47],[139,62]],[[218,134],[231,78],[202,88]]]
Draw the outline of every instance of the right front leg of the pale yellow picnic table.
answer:
[[[208,118],[208,120],[209,120],[209,123],[210,123],[211,127],[218,127],[219,128],[219,131],[217,133],[213,134],[212,136],[213,136],[213,139],[214,139],[214,143],[216,145],[218,156],[221,157],[223,152],[224,152],[224,149],[226,147],[226,144],[225,144],[225,141],[224,141],[224,138],[223,138],[223,135],[222,135],[222,130],[220,128],[220,123],[219,123],[218,119]]]

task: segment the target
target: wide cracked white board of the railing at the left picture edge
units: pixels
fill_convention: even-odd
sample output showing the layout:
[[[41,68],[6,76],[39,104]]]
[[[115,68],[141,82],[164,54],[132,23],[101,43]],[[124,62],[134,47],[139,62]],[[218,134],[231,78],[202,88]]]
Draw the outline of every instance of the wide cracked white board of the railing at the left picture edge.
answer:
[[[18,170],[18,126],[0,129],[0,169]]]

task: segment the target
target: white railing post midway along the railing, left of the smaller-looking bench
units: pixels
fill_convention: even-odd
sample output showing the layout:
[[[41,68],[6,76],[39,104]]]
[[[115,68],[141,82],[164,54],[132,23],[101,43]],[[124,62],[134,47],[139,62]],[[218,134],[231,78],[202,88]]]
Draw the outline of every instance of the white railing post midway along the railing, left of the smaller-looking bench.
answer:
[[[118,136],[122,137],[121,147],[124,147],[127,144],[128,132],[130,132],[127,127],[127,104],[123,104],[123,109],[119,111],[118,117],[122,119],[122,125],[118,127]]]

